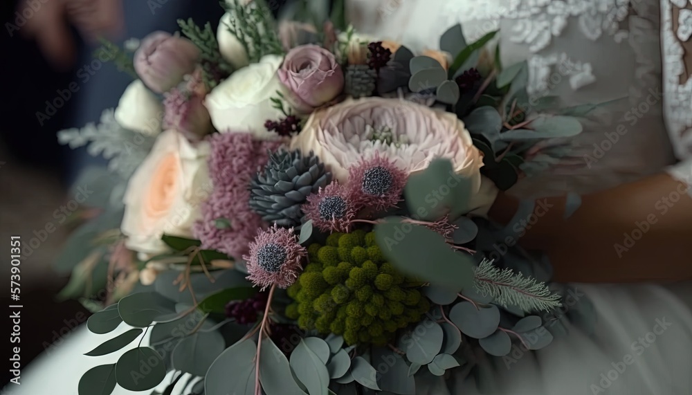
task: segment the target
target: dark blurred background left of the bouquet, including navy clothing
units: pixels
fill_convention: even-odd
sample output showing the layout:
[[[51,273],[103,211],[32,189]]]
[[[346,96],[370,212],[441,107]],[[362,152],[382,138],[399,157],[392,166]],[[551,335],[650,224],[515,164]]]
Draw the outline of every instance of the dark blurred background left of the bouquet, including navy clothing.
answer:
[[[27,3],[18,0],[2,3],[4,31],[0,36],[6,57],[1,75],[2,86],[8,93],[0,106],[4,121],[0,127],[0,185],[3,191],[0,193],[0,240],[6,246],[0,260],[6,270],[2,275],[5,279],[10,278],[10,261],[6,259],[10,236],[21,235],[26,243],[38,237],[48,223],[57,225],[55,210],[73,199],[67,191],[80,169],[100,165],[98,158],[91,158],[83,149],[71,150],[58,144],[57,131],[98,121],[104,109],[116,107],[122,91],[131,81],[112,63],[95,67],[91,54],[96,46],[85,42],[73,26],[67,28],[75,49],[73,56],[67,57],[69,62],[57,67],[47,59],[45,46],[54,43],[46,44],[45,39],[55,39],[55,36],[46,32],[42,47],[26,34],[29,25],[21,15],[37,18],[37,12],[45,12],[51,4],[48,2],[90,1],[28,1],[39,8],[33,12],[27,10],[30,8]],[[284,2],[273,1],[272,5],[276,5],[273,11],[278,12]],[[111,37],[116,44],[131,37],[142,38],[154,30],[172,33],[178,30],[176,19],[179,18],[192,17],[202,26],[209,21],[216,30],[223,15],[217,0],[122,0],[122,7],[122,31]],[[70,86],[77,88],[68,95],[65,92]],[[56,100],[61,96],[64,100]],[[55,104],[54,109],[51,103]],[[55,232],[42,237],[40,246],[21,262],[23,367],[51,342],[70,336],[69,331],[86,322],[89,316],[78,302],[60,301],[55,297],[68,277],[53,272],[51,264],[69,231],[69,226],[57,225]],[[0,299],[8,306],[10,292],[8,288],[5,290]],[[11,327],[10,324],[5,328]],[[9,379],[8,369],[3,369],[2,385]]]

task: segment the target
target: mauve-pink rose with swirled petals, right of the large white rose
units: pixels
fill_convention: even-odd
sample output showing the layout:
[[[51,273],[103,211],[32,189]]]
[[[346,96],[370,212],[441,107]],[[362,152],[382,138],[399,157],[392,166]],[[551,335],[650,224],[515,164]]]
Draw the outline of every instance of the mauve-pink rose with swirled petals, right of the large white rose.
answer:
[[[334,100],[344,88],[344,75],[334,54],[313,44],[290,50],[278,73],[302,113]]]

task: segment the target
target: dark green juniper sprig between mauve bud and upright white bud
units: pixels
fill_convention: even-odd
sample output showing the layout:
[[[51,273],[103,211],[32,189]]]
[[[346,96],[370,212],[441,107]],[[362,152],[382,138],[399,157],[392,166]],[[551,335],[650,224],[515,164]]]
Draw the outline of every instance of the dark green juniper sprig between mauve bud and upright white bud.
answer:
[[[204,28],[200,28],[192,21],[192,18],[187,21],[178,19],[178,26],[183,35],[188,37],[201,52],[202,80],[208,88],[214,88],[221,80],[233,73],[233,66],[221,56],[216,33],[209,22],[204,25]]]

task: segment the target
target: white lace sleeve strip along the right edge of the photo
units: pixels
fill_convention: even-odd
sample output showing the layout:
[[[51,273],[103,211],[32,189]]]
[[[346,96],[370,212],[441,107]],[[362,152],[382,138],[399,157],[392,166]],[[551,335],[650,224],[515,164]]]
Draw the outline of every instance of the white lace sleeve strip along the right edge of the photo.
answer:
[[[666,127],[682,160],[668,173],[692,184],[692,5],[661,0],[661,18]]]

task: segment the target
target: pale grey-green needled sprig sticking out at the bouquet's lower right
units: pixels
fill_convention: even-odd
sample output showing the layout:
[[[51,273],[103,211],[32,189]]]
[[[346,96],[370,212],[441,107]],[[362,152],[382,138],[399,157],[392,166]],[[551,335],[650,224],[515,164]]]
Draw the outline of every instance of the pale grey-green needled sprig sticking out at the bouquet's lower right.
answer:
[[[522,273],[515,274],[509,268],[493,266],[484,259],[475,269],[475,288],[484,296],[491,296],[502,306],[517,306],[527,313],[550,311],[561,306],[561,296],[551,293],[548,286]]]

